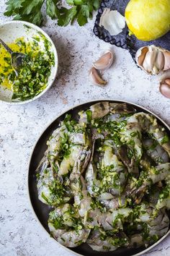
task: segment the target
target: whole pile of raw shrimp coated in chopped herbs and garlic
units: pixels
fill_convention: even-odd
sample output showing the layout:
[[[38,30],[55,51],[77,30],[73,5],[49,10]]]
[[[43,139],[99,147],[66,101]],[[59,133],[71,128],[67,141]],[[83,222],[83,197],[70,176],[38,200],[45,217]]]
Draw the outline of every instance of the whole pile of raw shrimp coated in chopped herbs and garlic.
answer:
[[[37,166],[50,234],[66,247],[140,247],[169,230],[170,139],[157,119],[102,101],[66,115]]]

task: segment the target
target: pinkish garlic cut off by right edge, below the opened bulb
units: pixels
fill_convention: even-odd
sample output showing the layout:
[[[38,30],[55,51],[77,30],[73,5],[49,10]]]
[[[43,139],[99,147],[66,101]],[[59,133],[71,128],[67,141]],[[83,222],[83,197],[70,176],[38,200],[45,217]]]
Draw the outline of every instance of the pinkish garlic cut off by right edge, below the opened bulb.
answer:
[[[161,84],[159,88],[162,95],[166,98],[170,98],[170,70],[164,72],[163,76],[161,77]]]

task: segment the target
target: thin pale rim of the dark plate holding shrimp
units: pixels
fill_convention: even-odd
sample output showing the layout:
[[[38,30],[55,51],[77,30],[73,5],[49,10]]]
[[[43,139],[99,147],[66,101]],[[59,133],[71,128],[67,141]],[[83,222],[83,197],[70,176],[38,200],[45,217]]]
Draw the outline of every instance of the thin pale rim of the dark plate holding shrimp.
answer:
[[[56,116],[52,121],[49,122],[48,125],[45,126],[45,128],[42,130],[42,132],[41,132],[40,135],[38,136],[38,138],[37,138],[37,140],[36,140],[36,142],[35,142],[35,144],[34,144],[34,146],[33,146],[33,148],[32,148],[32,151],[31,151],[31,153],[30,153],[30,158],[29,158],[28,166],[27,166],[27,197],[28,197],[28,200],[29,200],[29,203],[30,203],[30,208],[31,208],[31,210],[32,210],[33,216],[35,216],[35,219],[36,219],[37,223],[39,223],[39,226],[41,226],[41,228],[43,229],[43,231],[45,231],[45,234],[48,234],[48,237],[50,237],[50,234],[49,234],[48,231],[45,229],[45,227],[42,226],[42,223],[40,223],[40,220],[39,220],[39,218],[37,217],[37,215],[36,215],[36,213],[35,213],[35,210],[34,210],[34,208],[33,208],[32,201],[31,201],[31,198],[30,198],[29,174],[30,174],[30,164],[31,164],[31,160],[32,160],[32,155],[33,155],[33,153],[34,153],[34,150],[35,150],[35,147],[36,147],[38,141],[40,140],[40,137],[43,135],[43,133],[46,131],[46,129],[48,129],[48,127],[50,127],[51,124],[53,124],[53,122],[54,122],[56,119],[60,118],[63,114],[66,114],[68,111],[71,111],[71,110],[73,110],[73,109],[75,109],[75,108],[77,108],[77,107],[79,107],[79,106],[81,106],[81,105],[84,105],[84,104],[86,104],[86,103],[94,103],[94,104],[95,104],[95,103],[97,103],[97,102],[99,102],[99,101],[113,101],[113,102],[116,101],[116,102],[118,102],[118,103],[119,103],[119,102],[120,102],[120,103],[123,102],[123,103],[132,104],[133,106],[137,106],[138,108],[143,108],[143,110],[149,112],[149,113],[152,114],[153,116],[156,116],[156,118],[157,118],[159,121],[161,121],[161,122],[166,126],[166,128],[169,129],[169,132],[170,132],[169,124],[166,124],[166,122],[165,122],[163,119],[161,119],[161,117],[159,117],[158,115],[154,114],[152,111],[150,111],[150,110],[148,110],[147,108],[145,108],[145,107],[143,107],[143,106],[140,106],[140,105],[138,105],[138,104],[136,104],[136,103],[133,103],[133,102],[131,102],[131,101],[124,101],[124,100],[120,100],[120,99],[117,100],[117,99],[112,99],[112,98],[99,98],[99,99],[94,99],[94,100],[90,100],[90,101],[85,101],[85,102],[83,102],[83,103],[76,104],[75,106],[68,107],[65,111],[62,111],[61,114],[58,114],[58,116]],[[167,236],[169,236],[169,234],[170,234],[170,227],[169,227],[169,231],[168,231],[164,236],[162,236],[161,239],[159,239],[156,243],[152,244],[150,247],[144,249],[143,251],[138,252],[137,254],[131,255],[131,256],[140,256],[140,255],[145,254],[146,252],[148,252],[148,251],[150,251],[151,249],[153,249],[153,247],[156,247],[158,244],[160,244],[164,239],[166,239]],[[68,247],[65,247],[63,244],[60,244],[60,243],[59,243],[57,240],[55,240],[53,237],[50,237],[50,238],[53,239],[53,240],[52,240],[53,242],[56,242],[60,247],[62,247],[63,249],[66,249],[68,252],[71,252],[71,253],[73,253],[74,255],[84,256],[84,255],[81,255],[81,254],[79,254],[79,253],[77,253],[77,252],[74,252],[73,250],[69,249]],[[107,256],[107,255],[106,255],[106,256]]]

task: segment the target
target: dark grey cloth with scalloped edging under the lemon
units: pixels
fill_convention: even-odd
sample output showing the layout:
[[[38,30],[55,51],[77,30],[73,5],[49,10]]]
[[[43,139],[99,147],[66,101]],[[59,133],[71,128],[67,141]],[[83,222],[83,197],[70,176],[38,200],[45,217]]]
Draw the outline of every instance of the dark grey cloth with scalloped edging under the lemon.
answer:
[[[143,46],[161,46],[162,48],[166,48],[170,51],[170,32],[164,35],[161,38],[152,41],[141,41],[138,40],[135,35],[129,36],[129,30],[127,25],[122,30],[122,33],[119,35],[109,35],[109,32],[104,29],[104,27],[99,27],[99,20],[102,16],[102,12],[105,8],[110,8],[112,10],[117,10],[123,16],[125,16],[125,8],[130,0],[104,0],[102,1],[97,18],[94,24],[94,34],[97,35],[100,39],[104,40],[107,43],[111,43],[117,47],[125,48],[130,51],[131,56],[135,60],[135,53],[138,51],[138,48]]]

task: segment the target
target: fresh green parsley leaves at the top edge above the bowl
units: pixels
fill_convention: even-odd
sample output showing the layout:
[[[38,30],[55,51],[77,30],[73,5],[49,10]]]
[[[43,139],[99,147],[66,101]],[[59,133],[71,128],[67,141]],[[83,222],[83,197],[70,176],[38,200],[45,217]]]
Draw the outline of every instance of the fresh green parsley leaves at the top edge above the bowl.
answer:
[[[67,9],[60,0],[8,0],[5,16],[13,16],[14,20],[25,20],[35,25],[42,25],[42,4],[45,4],[46,14],[53,20],[58,19],[58,25],[66,26],[77,20],[80,26],[92,18],[94,10],[99,8],[101,0],[66,0],[71,6]]]

